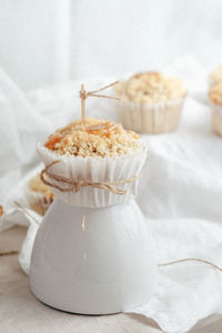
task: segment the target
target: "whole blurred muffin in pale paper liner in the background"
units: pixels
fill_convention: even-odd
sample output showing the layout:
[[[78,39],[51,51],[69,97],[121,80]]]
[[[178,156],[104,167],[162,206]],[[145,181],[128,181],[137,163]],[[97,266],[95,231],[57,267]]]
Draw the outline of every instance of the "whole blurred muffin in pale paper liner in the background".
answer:
[[[125,129],[163,133],[178,128],[186,90],[179,79],[145,72],[120,82],[115,93],[121,98],[118,108]]]

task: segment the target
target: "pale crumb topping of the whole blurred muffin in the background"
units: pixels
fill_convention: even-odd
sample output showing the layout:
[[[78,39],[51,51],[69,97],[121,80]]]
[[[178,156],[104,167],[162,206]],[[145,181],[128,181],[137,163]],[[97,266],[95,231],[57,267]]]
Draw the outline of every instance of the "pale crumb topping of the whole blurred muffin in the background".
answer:
[[[138,73],[115,87],[122,100],[138,103],[162,103],[186,95],[183,82],[158,72]]]

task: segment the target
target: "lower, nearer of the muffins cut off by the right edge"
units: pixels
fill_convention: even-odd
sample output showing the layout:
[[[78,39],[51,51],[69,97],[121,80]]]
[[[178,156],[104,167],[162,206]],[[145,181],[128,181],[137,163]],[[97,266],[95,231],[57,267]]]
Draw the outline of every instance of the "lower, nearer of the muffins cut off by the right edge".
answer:
[[[213,131],[222,137],[222,81],[210,88],[209,99],[212,110]]]

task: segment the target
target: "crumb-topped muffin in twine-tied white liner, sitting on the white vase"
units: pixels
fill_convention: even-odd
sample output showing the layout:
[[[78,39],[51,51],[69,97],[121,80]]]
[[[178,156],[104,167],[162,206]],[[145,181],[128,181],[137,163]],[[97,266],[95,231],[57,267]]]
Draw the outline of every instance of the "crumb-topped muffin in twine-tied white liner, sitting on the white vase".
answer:
[[[53,193],[69,204],[90,208],[134,195],[147,157],[137,133],[93,118],[84,125],[77,120],[57,130],[39,144],[39,152],[47,165],[42,179],[47,173],[44,182]]]

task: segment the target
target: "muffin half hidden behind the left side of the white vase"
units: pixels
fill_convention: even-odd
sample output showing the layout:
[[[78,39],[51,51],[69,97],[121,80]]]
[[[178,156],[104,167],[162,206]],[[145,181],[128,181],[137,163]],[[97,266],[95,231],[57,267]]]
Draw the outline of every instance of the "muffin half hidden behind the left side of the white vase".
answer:
[[[54,199],[50,188],[41,181],[40,174],[29,181],[27,194],[30,208],[40,215],[44,215]]]

